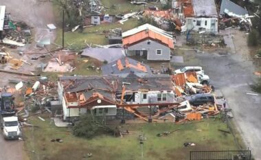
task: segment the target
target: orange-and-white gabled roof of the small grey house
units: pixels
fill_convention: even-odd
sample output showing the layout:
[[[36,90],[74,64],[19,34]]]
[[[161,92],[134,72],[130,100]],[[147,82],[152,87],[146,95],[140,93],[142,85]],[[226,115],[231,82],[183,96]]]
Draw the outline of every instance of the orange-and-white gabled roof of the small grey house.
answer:
[[[174,41],[172,35],[163,30],[161,31],[161,29],[157,27],[157,30],[155,30],[155,27],[151,26],[152,25],[145,24],[133,29],[133,32],[131,32],[132,30],[124,32],[125,34],[122,34],[123,45],[130,46],[135,43],[139,43],[140,41],[151,39],[152,41],[159,41],[159,43],[174,49]]]

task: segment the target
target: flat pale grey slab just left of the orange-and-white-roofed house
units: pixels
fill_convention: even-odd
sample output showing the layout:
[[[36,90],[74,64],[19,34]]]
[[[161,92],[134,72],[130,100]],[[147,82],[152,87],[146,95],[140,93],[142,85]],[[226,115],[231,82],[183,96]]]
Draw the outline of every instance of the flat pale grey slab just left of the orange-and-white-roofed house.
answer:
[[[96,58],[100,61],[106,60],[107,62],[113,62],[125,57],[122,48],[86,48],[81,55]]]

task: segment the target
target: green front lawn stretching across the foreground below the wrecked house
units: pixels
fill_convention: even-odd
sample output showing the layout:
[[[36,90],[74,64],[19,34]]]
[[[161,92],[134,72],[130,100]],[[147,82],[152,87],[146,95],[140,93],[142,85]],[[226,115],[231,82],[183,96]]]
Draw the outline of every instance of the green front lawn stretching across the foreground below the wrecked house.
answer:
[[[39,115],[37,115],[39,116]],[[228,130],[226,124],[218,119],[205,119],[190,124],[126,124],[121,130],[128,129],[130,134],[124,137],[102,135],[94,139],[82,139],[71,135],[70,128],[56,128],[47,115],[41,115],[45,122],[36,116],[29,118],[30,124],[38,128],[23,128],[25,146],[31,159],[74,160],[87,159],[141,159],[139,135],[145,134],[144,159],[188,159],[190,150],[236,150],[234,137],[218,129]],[[158,133],[181,128],[166,137],[157,137]],[[236,135],[240,141],[239,135]],[[63,139],[63,143],[51,142],[51,139]],[[196,146],[183,146],[192,142]],[[241,143],[241,141],[240,141]]]

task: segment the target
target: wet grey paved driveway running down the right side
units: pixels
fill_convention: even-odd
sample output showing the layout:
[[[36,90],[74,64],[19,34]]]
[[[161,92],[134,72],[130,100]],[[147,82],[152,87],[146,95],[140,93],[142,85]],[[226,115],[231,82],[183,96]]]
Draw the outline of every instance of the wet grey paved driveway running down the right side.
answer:
[[[230,35],[231,36],[231,35]],[[234,122],[238,126],[245,144],[252,151],[253,156],[261,159],[261,96],[247,95],[253,93],[249,84],[256,80],[253,66],[247,55],[247,38],[244,32],[234,31],[232,35],[234,48],[230,51],[207,53],[185,52],[186,65],[199,65],[209,75],[211,83],[216,89],[222,91],[227,99],[227,104],[232,108]],[[233,47],[230,44],[229,47]],[[181,66],[181,65],[175,65]],[[244,148],[247,149],[247,148]]]

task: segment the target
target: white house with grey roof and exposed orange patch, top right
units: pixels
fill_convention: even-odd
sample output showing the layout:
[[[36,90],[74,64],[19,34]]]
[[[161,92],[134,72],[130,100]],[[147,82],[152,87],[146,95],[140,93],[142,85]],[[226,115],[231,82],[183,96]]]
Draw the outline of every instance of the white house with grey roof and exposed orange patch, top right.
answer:
[[[191,5],[188,2],[185,3],[184,9],[187,30],[217,34],[218,14],[215,1],[191,0],[191,2]]]

